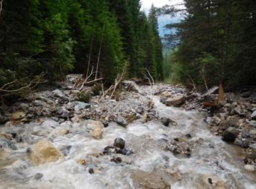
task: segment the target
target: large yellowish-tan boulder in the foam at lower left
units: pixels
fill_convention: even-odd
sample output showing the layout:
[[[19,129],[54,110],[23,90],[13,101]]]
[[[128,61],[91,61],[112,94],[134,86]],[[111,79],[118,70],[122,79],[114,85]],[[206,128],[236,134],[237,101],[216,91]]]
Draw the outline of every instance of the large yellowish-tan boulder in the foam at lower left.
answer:
[[[64,159],[64,155],[60,150],[57,150],[53,144],[44,139],[33,145],[30,150],[30,159],[35,166],[39,166],[40,164]]]

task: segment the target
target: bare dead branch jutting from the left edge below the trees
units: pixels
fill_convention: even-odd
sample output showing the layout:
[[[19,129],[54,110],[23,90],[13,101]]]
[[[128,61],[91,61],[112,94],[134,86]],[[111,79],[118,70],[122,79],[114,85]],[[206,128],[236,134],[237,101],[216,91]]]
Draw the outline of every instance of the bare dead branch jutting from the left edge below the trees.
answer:
[[[11,81],[10,83],[6,83],[4,84],[1,88],[0,88],[0,92],[6,92],[6,93],[17,93],[17,92],[21,92],[22,90],[28,89],[28,88],[35,88],[39,83],[42,83],[41,79],[42,77],[44,77],[44,72],[42,72],[41,74],[39,74],[39,76],[37,76],[35,79],[31,80],[30,83],[28,83],[27,86],[23,86],[21,88],[17,88],[15,90],[9,90],[8,88],[12,87],[14,83],[16,83],[18,80],[16,79],[15,81]]]

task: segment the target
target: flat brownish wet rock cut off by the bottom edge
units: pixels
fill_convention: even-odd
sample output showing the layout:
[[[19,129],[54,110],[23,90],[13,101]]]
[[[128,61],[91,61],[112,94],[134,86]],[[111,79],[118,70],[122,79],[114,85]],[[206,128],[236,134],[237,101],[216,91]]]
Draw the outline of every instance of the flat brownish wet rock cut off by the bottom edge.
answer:
[[[170,183],[154,172],[150,173],[143,170],[133,170],[131,171],[130,177],[133,181],[134,188],[171,189]]]

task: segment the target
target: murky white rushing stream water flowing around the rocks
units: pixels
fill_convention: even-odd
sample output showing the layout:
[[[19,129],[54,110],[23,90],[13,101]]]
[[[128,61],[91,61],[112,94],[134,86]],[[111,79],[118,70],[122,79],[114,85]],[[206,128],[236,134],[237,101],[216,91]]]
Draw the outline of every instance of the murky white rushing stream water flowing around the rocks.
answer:
[[[176,189],[205,189],[209,187],[206,184],[208,178],[219,179],[227,186],[232,186],[230,188],[256,188],[255,174],[244,170],[238,150],[212,135],[206,128],[203,115],[167,107],[160,103],[158,97],[154,98],[154,104],[160,117],[174,119],[179,125],[165,127],[158,121],[135,121],[127,128],[122,128],[111,123],[104,128],[100,140],[91,139],[79,123],[66,122],[60,125],[54,121],[44,121],[41,125],[26,125],[26,142],[19,143],[18,150],[0,152],[0,188],[134,188],[129,177],[131,170],[158,172],[170,169],[179,170],[182,175],[181,179],[170,179],[172,188]],[[70,133],[53,135],[56,128],[68,128]],[[190,158],[179,158],[172,152],[162,150],[164,139],[185,139],[188,133],[192,138],[186,140],[193,144]],[[92,155],[111,146],[116,137],[125,139],[126,147],[135,152],[127,157],[115,155],[121,157],[124,163],[111,162],[113,156],[110,155]],[[43,138],[50,139],[58,149],[72,146],[64,161],[40,166],[29,163],[26,149],[33,141]],[[86,166],[77,163],[80,159],[86,159]],[[89,168],[93,168],[94,174],[89,173]]]

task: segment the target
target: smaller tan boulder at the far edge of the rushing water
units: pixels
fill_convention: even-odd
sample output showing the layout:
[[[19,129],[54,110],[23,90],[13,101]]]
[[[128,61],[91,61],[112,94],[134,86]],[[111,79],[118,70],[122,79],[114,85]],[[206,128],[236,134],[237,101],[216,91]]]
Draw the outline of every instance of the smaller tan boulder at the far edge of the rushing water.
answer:
[[[104,126],[100,121],[89,121],[87,123],[87,129],[91,133],[91,137],[94,139],[102,139]]]

